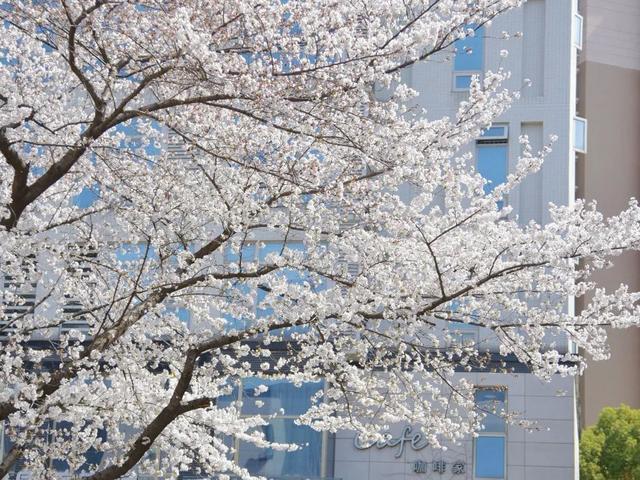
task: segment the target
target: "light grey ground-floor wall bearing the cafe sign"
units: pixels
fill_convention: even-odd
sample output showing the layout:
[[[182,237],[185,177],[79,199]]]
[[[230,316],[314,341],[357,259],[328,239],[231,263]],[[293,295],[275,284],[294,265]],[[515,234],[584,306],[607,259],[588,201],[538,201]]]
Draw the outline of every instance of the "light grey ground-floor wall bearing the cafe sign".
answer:
[[[507,429],[507,470],[509,480],[574,480],[575,408],[574,382],[571,378],[555,377],[550,383],[541,382],[532,374],[465,374],[476,385],[506,386],[507,409],[519,413],[522,419],[536,422],[535,428],[510,425]],[[394,427],[398,435],[404,425]],[[354,434],[337,434],[335,444],[335,477],[343,480],[473,480],[473,440],[450,445],[446,451],[426,447],[413,450],[405,446],[403,455],[396,458],[398,447],[367,450],[354,447]],[[444,460],[446,472],[431,470],[433,460]],[[416,460],[429,462],[428,473],[414,473]],[[456,461],[466,465],[465,474],[453,474]]]

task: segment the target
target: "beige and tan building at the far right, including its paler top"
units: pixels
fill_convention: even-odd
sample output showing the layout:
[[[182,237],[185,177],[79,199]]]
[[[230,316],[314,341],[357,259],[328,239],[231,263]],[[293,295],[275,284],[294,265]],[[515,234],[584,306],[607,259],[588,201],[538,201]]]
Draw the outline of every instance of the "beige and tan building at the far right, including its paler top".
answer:
[[[578,158],[578,195],[607,216],[640,196],[640,2],[582,0],[584,48],[579,56],[578,111],[589,118],[588,149]],[[627,253],[596,281],[608,290],[640,289],[640,256]],[[592,362],[580,388],[583,425],[603,407],[640,408],[640,330],[610,331],[611,359]]]

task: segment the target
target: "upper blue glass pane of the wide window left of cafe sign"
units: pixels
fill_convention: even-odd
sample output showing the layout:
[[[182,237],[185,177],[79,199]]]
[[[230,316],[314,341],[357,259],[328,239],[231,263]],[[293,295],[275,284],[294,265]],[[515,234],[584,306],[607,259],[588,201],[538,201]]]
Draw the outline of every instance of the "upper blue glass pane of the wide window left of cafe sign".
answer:
[[[322,382],[304,383],[296,387],[285,380],[243,380],[242,413],[272,414],[280,409],[285,415],[301,415],[311,406],[311,397],[322,390]],[[266,392],[256,391],[260,385],[268,387]]]

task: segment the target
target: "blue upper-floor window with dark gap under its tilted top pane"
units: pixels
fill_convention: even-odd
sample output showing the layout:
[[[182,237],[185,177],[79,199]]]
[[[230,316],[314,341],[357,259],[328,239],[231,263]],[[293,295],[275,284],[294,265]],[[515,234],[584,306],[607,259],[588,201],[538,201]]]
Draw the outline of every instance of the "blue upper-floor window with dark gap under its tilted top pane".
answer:
[[[496,186],[507,181],[509,172],[509,128],[507,125],[492,125],[476,141],[476,170],[487,180],[484,193],[489,194]],[[500,200],[498,208],[508,199]]]

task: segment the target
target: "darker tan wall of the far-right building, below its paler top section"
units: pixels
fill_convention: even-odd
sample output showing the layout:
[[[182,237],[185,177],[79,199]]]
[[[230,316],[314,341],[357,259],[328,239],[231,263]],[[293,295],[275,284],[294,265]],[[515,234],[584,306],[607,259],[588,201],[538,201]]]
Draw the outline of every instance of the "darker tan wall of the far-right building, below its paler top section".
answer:
[[[577,160],[578,195],[614,215],[629,197],[640,198],[640,70],[583,62],[579,97],[589,128],[588,154]],[[640,254],[615,259],[596,279],[607,289],[626,283],[640,290]],[[611,359],[591,362],[582,379],[583,425],[593,424],[605,406],[640,408],[640,329],[611,332],[610,345]]]

